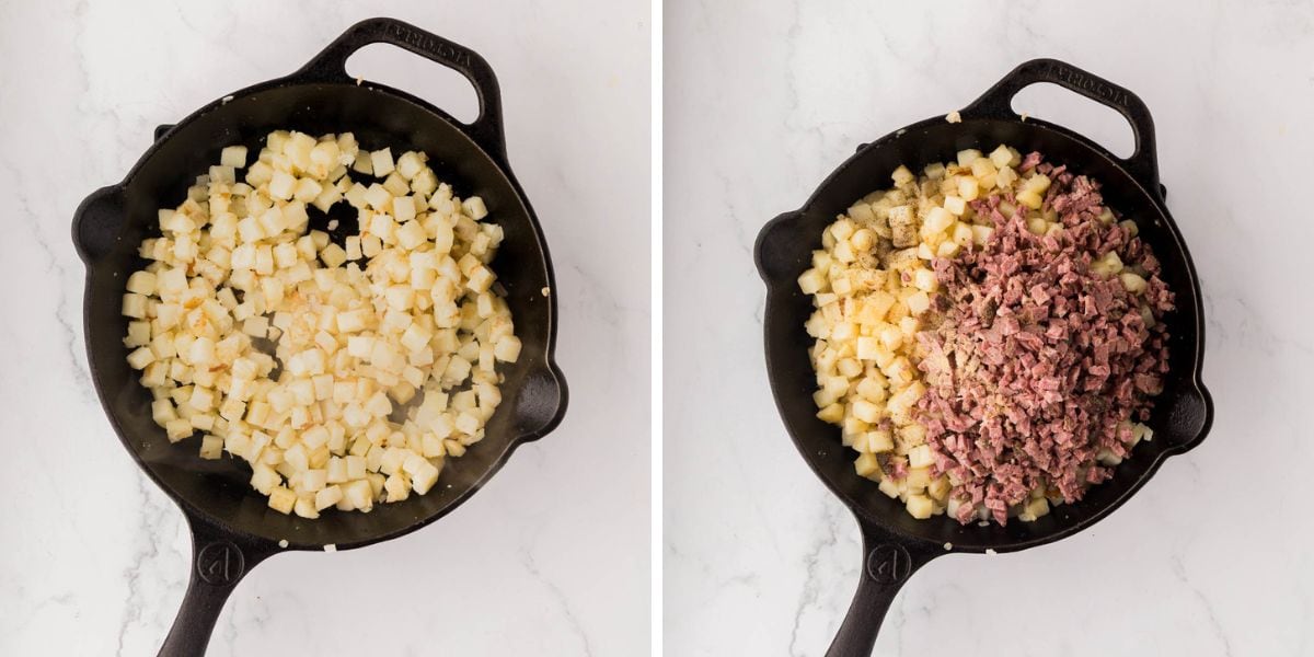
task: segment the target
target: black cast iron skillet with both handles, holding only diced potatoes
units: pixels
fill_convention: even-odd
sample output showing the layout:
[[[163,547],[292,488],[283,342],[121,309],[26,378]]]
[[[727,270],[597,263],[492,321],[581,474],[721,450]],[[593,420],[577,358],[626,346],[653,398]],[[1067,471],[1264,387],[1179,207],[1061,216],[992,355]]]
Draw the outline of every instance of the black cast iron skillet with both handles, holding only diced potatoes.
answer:
[[[461,124],[405,92],[346,72],[360,47],[386,42],[461,72],[474,85],[480,117]],[[158,234],[155,210],[185,197],[196,175],[218,162],[219,150],[244,143],[258,152],[275,129],[309,134],[352,131],[365,147],[423,150],[440,180],[461,196],[482,196],[506,240],[494,267],[523,343],[520,360],[503,369],[505,401],[486,438],[443,469],[427,495],[378,505],[369,514],[326,512],[318,520],[283,515],[265,505],[244,463],[204,461],[196,439],[171,445],[150,413],[150,393],[129,369],[120,300],[127,273],[143,265],[141,240]],[[342,204],[346,206],[346,204]],[[336,209],[335,209],[336,210]],[[334,213],[335,238],[355,230],[355,213]],[[314,213],[314,210],[311,210]],[[313,227],[325,229],[322,214]],[[300,71],[248,87],[201,108],[176,126],[156,130],[156,142],[122,183],[96,191],[74,217],[74,242],[87,265],[84,318],[92,380],[110,424],[138,465],[183,509],[192,528],[193,568],[183,610],[160,654],[201,654],[234,585],[252,566],[286,549],[359,548],[415,531],[469,498],[520,443],[552,431],[566,407],[566,386],[552,360],[556,294],[547,244],[524,192],[507,166],[497,78],[476,53],[401,21],[373,18],[350,28]]]

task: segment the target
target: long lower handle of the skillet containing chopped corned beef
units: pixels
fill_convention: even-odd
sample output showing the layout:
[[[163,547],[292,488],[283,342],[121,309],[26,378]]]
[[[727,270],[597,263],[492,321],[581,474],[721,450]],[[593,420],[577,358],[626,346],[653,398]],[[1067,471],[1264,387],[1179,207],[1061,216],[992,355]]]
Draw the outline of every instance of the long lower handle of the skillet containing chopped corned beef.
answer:
[[[862,579],[827,657],[869,657],[899,589],[917,569],[947,555],[943,549],[896,537],[862,518],[858,526],[862,527]]]

